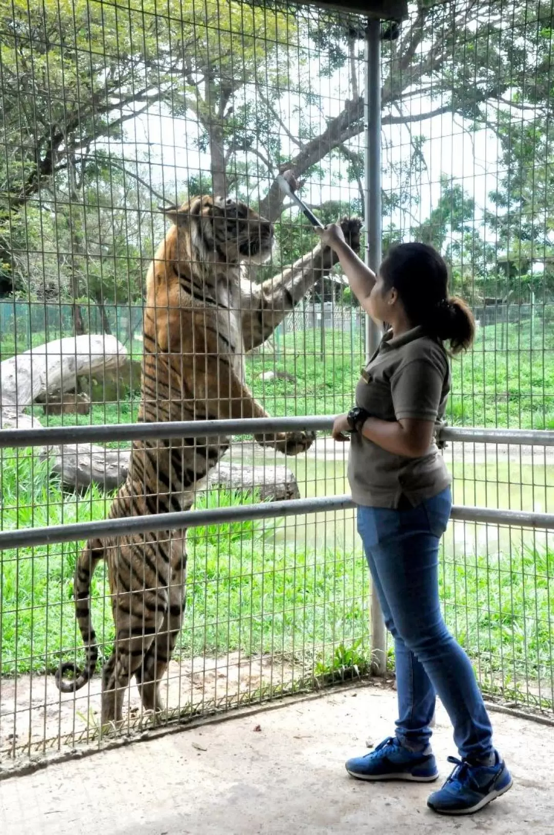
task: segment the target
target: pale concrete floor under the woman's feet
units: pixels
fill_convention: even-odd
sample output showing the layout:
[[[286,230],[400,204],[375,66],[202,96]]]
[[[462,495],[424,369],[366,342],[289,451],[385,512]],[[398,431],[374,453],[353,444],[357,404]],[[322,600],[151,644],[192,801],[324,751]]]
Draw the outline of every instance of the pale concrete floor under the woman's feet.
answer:
[[[551,835],[554,727],[493,714],[496,745],[514,787],[474,817],[439,817],[427,785],[369,784],[346,775],[346,757],[392,728],[395,693],[333,691],[279,710],[52,765],[0,782],[2,835]],[[441,777],[453,753],[444,711],[434,747]],[[435,784],[437,785],[437,784]]]

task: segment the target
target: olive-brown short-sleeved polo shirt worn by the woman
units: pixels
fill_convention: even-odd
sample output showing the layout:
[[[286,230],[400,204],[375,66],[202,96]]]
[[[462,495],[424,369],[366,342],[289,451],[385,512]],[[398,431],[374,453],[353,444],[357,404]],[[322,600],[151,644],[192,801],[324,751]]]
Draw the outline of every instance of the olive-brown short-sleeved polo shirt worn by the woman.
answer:
[[[450,387],[445,347],[415,327],[396,338],[392,331],[385,333],[362,372],[355,400],[372,417],[432,420],[438,429]],[[405,458],[388,453],[361,433],[350,438],[348,479],[355,503],[376,508],[397,508],[402,497],[415,506],[451,483],[435,438],[421,458]]]

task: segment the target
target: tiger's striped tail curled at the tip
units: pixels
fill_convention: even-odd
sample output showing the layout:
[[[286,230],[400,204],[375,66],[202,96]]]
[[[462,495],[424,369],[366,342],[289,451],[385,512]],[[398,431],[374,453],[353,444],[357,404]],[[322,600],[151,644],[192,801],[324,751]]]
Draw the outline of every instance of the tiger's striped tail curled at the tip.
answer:
[[[85,649],[85,664],[79,670],[73,661],[63,661],[55,673],[58,690],[62,693],[73,693],[80,690],[93,676],[98,661],[98,644],[96,633],[90,614],[90,584],[94,569],[101,559],[104,559],[105,548],[100,539],[90,539],[85,545],[75,568],[75,582],[73,596],[75,598],[75,617],[83,637]],[[71,673],[71,678],[64,678],[65,673]]]

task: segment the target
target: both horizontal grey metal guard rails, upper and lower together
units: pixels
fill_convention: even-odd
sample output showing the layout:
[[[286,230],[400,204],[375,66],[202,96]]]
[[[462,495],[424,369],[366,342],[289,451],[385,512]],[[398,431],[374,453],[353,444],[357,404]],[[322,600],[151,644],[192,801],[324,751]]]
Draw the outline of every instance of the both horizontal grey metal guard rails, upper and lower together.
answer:
[[[290,432],[312,429],[329,432],[335,417],[310,415],[307,417],[264,417],[234,420],[174,421],[168,423],[122,423],[118,426],[40,427],[33,429],[4,429],[0,431],[0,448],[43,446],[59,443],[93,443],[98,441],[162,440],[171,438],[227,438],[229,435]],[[514,444],[516,446],[554,447],[554,432],[526,429],[441,429],[439,440],[463,443]],[[274,519],[280,516],[311,514],[321,511],[354,508],[349,495],[322,498],[299,498],[288,501],[249,504],[242,508],[212,508],[186,510],[157,516],[134,516],[130,519],[106,519],[98,522],[50,525],[36,529],[0,531],[0,550],[25,546],[70,542],[108,534],[138,534],[149,530],[196,528],[206,524],[222,524],[252,519]],[[451,519],[460,522],[502,524],[523,528],[554,529],[554,514],[530,511],[454,505]],[[374,647],[375,649],[380,649]]]

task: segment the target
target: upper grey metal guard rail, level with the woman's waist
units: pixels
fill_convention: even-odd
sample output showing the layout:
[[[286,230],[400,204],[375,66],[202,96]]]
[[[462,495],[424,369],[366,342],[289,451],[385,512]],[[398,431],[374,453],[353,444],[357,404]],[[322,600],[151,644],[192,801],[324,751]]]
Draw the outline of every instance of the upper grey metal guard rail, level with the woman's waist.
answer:
[[[58,443],[132,441],[134,438],[199,438],[220,435],[250,435],[313,429],[328,432],[333,415],[306,417],[242,417],[233,420],[118,423],[98,426],[55,426],[30,429],[0,429],[0,448],[53,446]],[[503,443],[554,447],[554,431],[547,429],[481,429],[445,427],[441,440],[464,443]]]

